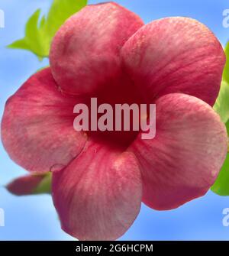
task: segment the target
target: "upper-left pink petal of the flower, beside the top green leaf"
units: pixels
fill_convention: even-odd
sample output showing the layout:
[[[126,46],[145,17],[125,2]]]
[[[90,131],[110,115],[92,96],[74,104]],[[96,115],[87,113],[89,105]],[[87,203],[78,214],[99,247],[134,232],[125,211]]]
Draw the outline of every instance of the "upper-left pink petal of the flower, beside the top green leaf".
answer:
[[[95,92],[120,72],[120,50],[143,21],[113,2],[88,5],[57,32],[50,51],[53,77],[72,94]]]

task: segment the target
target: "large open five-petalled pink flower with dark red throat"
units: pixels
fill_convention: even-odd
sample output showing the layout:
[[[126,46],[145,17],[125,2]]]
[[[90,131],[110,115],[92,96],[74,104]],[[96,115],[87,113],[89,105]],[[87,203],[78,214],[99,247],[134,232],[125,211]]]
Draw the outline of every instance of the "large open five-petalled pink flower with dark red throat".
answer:
[[[224,63],[217,38],[191,18],[144,25],[117,4],[88,5],[57,32],[50,68],[8,99],[3,144],[26,170],[53,172],[64,231],[81,240],[116,239],[141,202],[173,209],[214,183],[227,153],[226,130],[211,109]],[[92,96],[156,103],[156,138],[76,132],[73,107]]]

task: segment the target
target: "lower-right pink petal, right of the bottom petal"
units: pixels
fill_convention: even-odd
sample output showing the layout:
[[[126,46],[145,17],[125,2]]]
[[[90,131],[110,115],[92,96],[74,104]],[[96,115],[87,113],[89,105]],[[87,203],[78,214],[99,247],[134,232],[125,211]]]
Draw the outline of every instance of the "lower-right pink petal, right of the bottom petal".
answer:
[[[173,209],[214,183],[227,154],[227,132],[208,104],[173,93],[156,101],[156,137],[139,135],[130,150],[140,162],[144,203]]]

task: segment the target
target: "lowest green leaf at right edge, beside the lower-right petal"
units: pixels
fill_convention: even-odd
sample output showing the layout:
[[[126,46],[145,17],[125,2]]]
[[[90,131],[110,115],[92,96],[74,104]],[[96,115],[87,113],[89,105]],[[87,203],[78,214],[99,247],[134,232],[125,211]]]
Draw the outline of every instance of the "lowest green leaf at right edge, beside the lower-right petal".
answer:
[[[211,190],[219,196],[229,196],[229,154]]]

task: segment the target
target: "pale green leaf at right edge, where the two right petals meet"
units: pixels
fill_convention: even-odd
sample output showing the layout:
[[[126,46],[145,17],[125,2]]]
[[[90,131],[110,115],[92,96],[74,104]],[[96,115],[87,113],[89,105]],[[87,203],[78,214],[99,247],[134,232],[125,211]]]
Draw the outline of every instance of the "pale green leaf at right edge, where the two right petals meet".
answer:
[[[220,115],[221,121],[226,123],[229,120],[229,84],[222,81],[221,89],[213,109]]]

